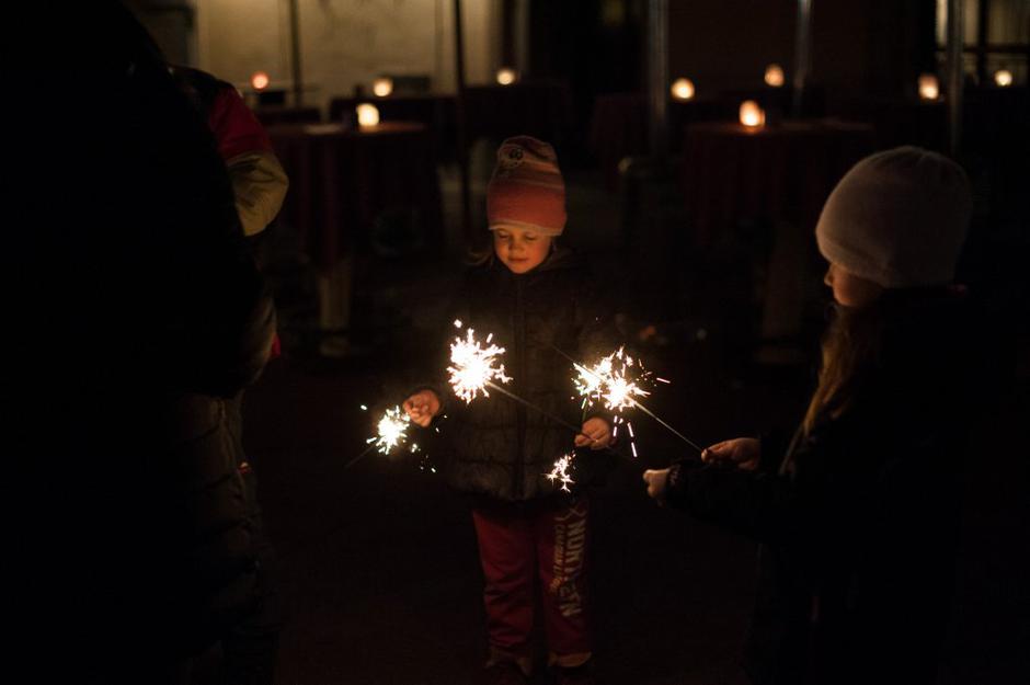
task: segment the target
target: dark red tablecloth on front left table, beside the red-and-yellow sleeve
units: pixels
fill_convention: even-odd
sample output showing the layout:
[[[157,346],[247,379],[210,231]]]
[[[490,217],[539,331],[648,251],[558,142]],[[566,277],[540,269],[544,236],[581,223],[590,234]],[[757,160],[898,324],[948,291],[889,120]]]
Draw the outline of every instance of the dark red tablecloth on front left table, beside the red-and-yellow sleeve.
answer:
[[[268,136],[289,175],[279,216],[300,231],[321,270],[366,240],[385,210],[415,210],[427,233],[439,231],[439,185],[424,125],[283,125],[271,127]]]

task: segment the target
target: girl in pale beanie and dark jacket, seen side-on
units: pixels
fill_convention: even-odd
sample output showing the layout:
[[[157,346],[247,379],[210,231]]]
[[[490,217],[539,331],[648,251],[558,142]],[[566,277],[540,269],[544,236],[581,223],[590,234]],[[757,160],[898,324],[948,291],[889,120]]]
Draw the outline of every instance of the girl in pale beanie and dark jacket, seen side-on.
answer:
[[[836,316],[792,437],[644,472],[651,496],[760,544],[753,683],[936,682],[980,398],[976,328],[951,287],[971,206],[965,173],[936,152],[858,162],[815,231]]]

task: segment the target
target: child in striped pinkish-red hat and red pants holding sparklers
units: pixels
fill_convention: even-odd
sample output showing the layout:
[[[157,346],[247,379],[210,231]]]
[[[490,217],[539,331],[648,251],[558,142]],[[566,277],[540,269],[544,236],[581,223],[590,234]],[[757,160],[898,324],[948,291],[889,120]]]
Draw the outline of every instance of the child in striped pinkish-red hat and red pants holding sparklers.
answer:
[[[610,351],[610,316],[582,261],[556,243],[565,227],[565,186],[550,145],[528,136],[501,145],[487,216],[493,252],[466,276],[453,313],[506,349],[512,392],[580,425],[580,433],[501,393],[449,401],[443,380],[414,392],[404,409],[423,426],[446,409],[448,482],[471,495],[487,581],[488,682],[528,682],[539,585],[558,682],[592,683],[588,500],[582,488],[563,492],[547,473],[575,447],[584,453],[575,461],[577,486],[596,482],[606,466],[596,450],[611,442],[610,416],[582,414],[570,398],[563,353],[593,358]]]

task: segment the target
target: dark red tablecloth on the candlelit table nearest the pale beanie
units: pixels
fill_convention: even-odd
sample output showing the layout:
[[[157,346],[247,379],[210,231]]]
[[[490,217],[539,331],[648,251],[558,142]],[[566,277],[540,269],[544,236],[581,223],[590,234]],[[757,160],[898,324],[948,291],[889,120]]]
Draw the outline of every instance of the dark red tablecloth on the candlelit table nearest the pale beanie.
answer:
[[[873,150],[871,126],[831,119],[759,129],[690,124],[684,132],[684,195],[700,246],[744,219],[814,229],[829,191]]]

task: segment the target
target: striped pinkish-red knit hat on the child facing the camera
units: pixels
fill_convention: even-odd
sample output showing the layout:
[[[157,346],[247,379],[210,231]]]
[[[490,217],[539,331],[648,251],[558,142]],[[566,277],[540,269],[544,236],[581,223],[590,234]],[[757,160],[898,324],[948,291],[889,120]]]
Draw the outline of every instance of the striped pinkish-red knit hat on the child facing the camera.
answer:
[[[508,138],[487,186],[490,230],[531,228],[560,236],[565,228],[565,182],[554,148],[529,136]]]

